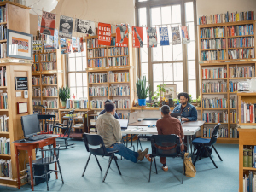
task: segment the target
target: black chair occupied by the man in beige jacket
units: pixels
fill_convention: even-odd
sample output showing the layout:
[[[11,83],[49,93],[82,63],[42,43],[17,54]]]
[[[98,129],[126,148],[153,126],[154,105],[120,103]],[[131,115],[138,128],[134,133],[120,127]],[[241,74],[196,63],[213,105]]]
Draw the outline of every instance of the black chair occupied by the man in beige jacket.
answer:
[[[109,157],[108,169],[110,167],[110,164],[111,164],[112,160],[114,160],[115,164],[116,164],[116,166],[117,166],[117,168],[119,170],[119,174],[122,175],[121,172],[120,172],[120,169],[119,169],[119,165],[118,165],[118,163],[116,161],[116,156],[114,155],[114,153],[119,152],[118,150],[113,151],[113,152],[107,152],[107,150],[105,148],[105,145],[104,145],[104,142],[102,140],[102,137],[100,135],[92,135],[92,134],[84,133],[83,134],[83,138],[84,138],[85,148],[90,153],[89,158],[88,158],[88,160],[86,162],[86,165],[84,167],[84,172],[86,170],[86,167],[88,166],[88,163],[89,163],[89,160],[90,160],[90,156],[91,156],[91,154],[93,154],[95,156],[95,158],[96,158],[96,161],[97,161],[98,166],[100,167],[101,171],[102,171],[102,167],[101,167],[101,165],[100,165],[100,163],[99,163],[99,161],[98,161],[98,159],[96,157],[98,155],[99,156],[108,156]],[[107,177],[108,169],[107,169],[107,171],[105,173],[105,176],[104,176],[102,182],[104,182],[106,177]],[[82,177],[84,177],[84,172],[82,174]]]

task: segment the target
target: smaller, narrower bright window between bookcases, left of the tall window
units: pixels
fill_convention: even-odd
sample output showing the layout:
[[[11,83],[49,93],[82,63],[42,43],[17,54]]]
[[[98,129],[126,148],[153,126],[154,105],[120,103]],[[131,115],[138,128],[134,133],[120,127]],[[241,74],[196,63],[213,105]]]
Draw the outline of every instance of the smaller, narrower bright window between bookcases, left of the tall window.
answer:
[[[88,97],[85,46],[86,44],[84,43],[84,51],[82,53],[68,54],[67,81],[70,87],[70,95],[71,97],[74,95],[76,99]]]

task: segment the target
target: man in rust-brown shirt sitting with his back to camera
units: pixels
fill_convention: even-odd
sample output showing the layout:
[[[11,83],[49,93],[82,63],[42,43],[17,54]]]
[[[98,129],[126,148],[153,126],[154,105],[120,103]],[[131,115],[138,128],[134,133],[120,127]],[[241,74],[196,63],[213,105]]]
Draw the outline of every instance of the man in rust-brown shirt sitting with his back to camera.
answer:
[[[183,128],[181,126],[180,121],[176,118],[171,117],[171,110],[167,105],[162,106],[161,115],[162,115],[162,119],[159,119],[156,122],[158,135],[171,135],[171,134],[177,135],[180,139],[180,143],[182,143],[180,149],[181,151],[183,151],[184,144],[182,139],[184,137],[184,133],[183,133]],[[161,148],[161,149],[164,149],[164,148]],[[168,149],[172,149],[172,148],[168,147]],[[165,172],[167,172],[168,166],[166,166],[166,157],[160,157],[160,162],[161,164],[163,164],[162,169]]]

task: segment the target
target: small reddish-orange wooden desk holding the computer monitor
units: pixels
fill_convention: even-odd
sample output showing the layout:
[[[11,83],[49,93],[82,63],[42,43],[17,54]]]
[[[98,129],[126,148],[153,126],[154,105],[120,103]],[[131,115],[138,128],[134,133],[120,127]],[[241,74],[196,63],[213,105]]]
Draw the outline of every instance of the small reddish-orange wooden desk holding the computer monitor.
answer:
[[[31,189],[34,190],[34,183],[33,183],[33,170],[32,170],[32,150],[35,148],[43,148],[47,145],[53,145],[54,148],[56,147],[56,138],[58,135],[51,135],[52,137],[38,140],[38,141],[26,141],[20,143],[20,140],[15,141],[15,160],[17,165],[17,176],[18,176],[18,188],[20,189],[20,168],[19,168],[19,150],[26,150],[28,153],[28,160],[30,166],[30,175],[31,175]],[[55,163],[55,170],[57,170],[57,163]],[[58,173],[56,172],[56,179],[58,179]]]

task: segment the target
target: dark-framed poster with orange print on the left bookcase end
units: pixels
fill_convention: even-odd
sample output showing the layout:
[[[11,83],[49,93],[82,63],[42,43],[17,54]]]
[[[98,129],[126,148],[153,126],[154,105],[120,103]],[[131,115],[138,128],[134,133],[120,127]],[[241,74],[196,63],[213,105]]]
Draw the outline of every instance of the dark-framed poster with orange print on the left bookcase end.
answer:
[[[7,30],[7,57],[33,59],[32,34]]]

